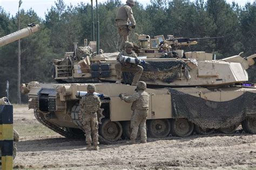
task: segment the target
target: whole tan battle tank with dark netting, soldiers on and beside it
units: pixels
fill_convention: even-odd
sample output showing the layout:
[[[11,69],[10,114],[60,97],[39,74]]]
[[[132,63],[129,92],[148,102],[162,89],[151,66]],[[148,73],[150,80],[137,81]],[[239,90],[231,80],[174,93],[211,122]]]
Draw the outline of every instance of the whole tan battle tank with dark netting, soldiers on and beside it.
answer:
[[[178,46],[197,44],[199,39],[164,36],[138,36],[136,52],[145,60],[140,80],[147,83],[150,94],[147,131],[151,137],[164,138],[170,134],[190,136],[218,129],[232,133],[239,124],[248,133],[256,133],[256,88],[248,80],[246,69],[254,65],[256,54],[213,60],[205,52],[184,52]],[[159,45],[160,44],[160,45]],[[118,53],[95,55],[93,42],[89,46],[66,53],[54,62],[57,82],[22,84],[28,94],[29,108],[48,128],[68,138],[84,137],[79,115],[79,91],[86,91],[88,83],[96,92],[104,94],[102,110],[98,113],[99,134],[102,141],[112,142],[130,137],[131,105],[121,101],[120,93],[131,95],[132,74],[123,74],[123,84],[115,84],[114,64]],[[75,83],[74,83],[75,82]],[[127,84],[126,84],[127,83]]]

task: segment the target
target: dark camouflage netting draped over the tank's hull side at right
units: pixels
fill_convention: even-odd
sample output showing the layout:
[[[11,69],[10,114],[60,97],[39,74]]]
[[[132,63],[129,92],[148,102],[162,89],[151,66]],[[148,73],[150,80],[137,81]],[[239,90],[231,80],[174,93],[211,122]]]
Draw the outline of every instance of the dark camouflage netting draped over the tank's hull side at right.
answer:
[[[231,101],[213,102],[171,88],[169,91],[173,117],[185,117],[201,128],[227,128],[239,124],[246,116],[255,115],[255,93],[246,92]]]

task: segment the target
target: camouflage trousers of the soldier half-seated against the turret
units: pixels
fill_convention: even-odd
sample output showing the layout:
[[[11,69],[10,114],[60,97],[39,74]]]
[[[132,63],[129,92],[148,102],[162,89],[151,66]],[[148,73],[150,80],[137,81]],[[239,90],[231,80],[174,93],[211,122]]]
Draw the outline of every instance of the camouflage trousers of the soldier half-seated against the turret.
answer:
[[[142,76],[143,73],[143,67],[142,66],[131,66],[130,67],[125,67],[122,65],[122,63],[117,62],[114,65],[114,68],[116,69],[116,74],[117,74],[117,79],[121,80],[122,79],[122,72],[132,72],[134,73],[134,77],[132,80],[132,85],[137,86],[137,83],[139,82],[140,76]]]

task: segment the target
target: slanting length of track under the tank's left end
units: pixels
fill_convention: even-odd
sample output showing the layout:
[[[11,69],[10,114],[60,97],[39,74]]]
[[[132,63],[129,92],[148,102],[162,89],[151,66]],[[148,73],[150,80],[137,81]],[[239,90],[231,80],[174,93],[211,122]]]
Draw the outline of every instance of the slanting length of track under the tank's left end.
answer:
[[[44,115],[41,112],[38,112],[37,110],[34,110],[34,115],[35,115],[37,121],[42,123],[47,128],[49,128],[49,129],[51,129],[51,130],[61,134],[62,136],[66,137],[66,138],[77,139],[77,137],[74,134],[66,131],[65,128],[59,128],[55,124],[52,124],[49,121],[47,121],[44,118]]]

